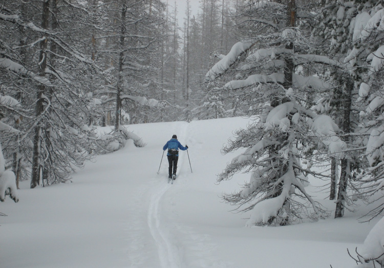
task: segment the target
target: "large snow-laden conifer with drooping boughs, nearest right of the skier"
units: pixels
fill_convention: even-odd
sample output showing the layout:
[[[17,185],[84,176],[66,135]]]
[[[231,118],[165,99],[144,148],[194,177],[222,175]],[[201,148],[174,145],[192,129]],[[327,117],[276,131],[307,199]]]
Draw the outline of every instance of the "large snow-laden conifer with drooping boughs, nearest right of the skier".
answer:
[[[259,115],[223,149],[247,148],[218,178],[230,179],[241,170],[251,173],[242,190],[224,196],[242,211],[251,210],[249,226],[324,215],[305,185],[309,174],[326,175],[312,172],[310,164],[301,161],[313,152],[342,159],[347,149],[335,136],[338,126],[332,118],[309,109],[315,96],[333,88],[322,79],[323,66],[339,65],[313,54],[312,42],[305,38],[313,18],[309,11],[296,7],[295,1],[248,4],[238,17],[242,40],[206,74],[207,81],[221,81],[222,90],[242,95],[250,113]]]

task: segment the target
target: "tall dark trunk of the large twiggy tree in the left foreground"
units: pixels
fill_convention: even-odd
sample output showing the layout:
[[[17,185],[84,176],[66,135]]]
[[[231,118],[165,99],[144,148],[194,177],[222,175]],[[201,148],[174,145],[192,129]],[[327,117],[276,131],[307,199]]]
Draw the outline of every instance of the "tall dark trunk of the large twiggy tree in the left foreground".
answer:
[[[50,0],[42,2],[42,17],[41,17],[41,28],[48,29],[49,22],[49,4]],[[40,55],[39,55],[39,76],[45,77],[45,69],[47,67],[47,44],[48,39],[40,41]],[[40,121],[41,114],[44,111],[44,104],[42,95],[44,94],[46,87],[44,85],[39,85],[37,88],[37,101],[35,107],[36,120]],[[41,134],[41,125],[38,122],[34,129],[33,137],[33,156],[32,156],[32,178],[31,178],[31,188],[35,188],[39,185],[40,181],[40,134]]]

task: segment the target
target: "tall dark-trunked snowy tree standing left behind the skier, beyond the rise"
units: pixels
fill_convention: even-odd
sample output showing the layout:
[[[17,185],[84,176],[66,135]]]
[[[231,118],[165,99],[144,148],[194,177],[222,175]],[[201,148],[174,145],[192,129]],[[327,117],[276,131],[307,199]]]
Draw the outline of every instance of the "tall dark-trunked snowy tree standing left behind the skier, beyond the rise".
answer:
[[[103,62],[109,79],[94,93],[109,110],[118,131],[121,121],[130,123],[135,113],[140,116],[143,111],[137,107],[160,106],[150,95],[159,89],[154,78],[161,67],[155,59],[161,55],[159,13],[163,4],[155,0],[121,0],[105,3],[100,9],[106,20],[101,25],[105,37],[98,61]]]

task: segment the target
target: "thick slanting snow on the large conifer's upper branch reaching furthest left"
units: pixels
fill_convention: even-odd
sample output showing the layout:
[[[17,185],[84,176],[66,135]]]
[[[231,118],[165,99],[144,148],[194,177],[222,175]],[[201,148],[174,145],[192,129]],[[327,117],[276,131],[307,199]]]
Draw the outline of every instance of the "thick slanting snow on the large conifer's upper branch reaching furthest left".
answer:
[[[205,75],[205,80],[215,80],[222,75],[238,57],[247,52],[254,42],[237,42],[234,44],[227,55],[225,55],[218,63],[216,63]]]

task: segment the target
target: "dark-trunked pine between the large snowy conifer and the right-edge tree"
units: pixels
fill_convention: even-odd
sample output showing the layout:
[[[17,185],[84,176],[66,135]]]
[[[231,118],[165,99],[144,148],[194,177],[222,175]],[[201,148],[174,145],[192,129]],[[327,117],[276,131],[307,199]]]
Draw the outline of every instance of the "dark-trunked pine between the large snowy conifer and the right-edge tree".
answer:
[[[369,71],[369,62],[367,62],[367,59],[372,58],[369,55],[371,53],[374,55],[374,51],[378,48],[378,32],[374,29],[375,27],[371,28],[371,31],[367,30],[370,28],[369,20],[382,8],[382,3],[376,2],[372,5],[370,1],[363,0],[344,5],[337,1],[322,1],[320,5],[321,8],[318,9],[321,11],[320,23],[314,33],[323,38],[325,53],[339,60],[340,64],[342,63],[339,68],[330,71],[335,88],[324,100],[329,104],[328,113],[342,126],[343,138],[351,148],[346,152],[340,167],[335,217],[342,217],[345,208],[352,205],[347,187],[352,186],[352,189],[357,191],[357,196],[359,192],[365,192],[366,187],[361,186],[360,183],[354,186],[353,182],[361,178],[368,166],[361,154],[364,154],[362,149],[367,146],[366,135],[374,127],[372,127],[372,117],[367,119],[361,115],[361,112],[360,115],[358,113],[361,109],[365,110],[364,107],[370,102],[368,98],[370,86],[369,82],[368,84],[366,82],[375,81],[373,83],[376,85],[381,83],[371,76],[372,72]],[[362,49],[362,47],[365,48]],[[359,97],[357,92],[364,96]],[[368,123],[369,121],[371,123]],[[337,168],[337,165],[334,167]],[[337,172],[333,173],[337,174]],[[363,189],[360,189],[361,187]]]

